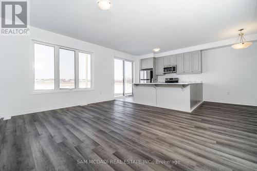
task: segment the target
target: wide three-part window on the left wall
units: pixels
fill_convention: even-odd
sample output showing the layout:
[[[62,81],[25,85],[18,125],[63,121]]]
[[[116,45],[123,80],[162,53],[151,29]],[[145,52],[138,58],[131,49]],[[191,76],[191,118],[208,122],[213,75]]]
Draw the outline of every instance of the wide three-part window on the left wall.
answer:
[[[92,88],[92,53],[33,41],[35,93]]]

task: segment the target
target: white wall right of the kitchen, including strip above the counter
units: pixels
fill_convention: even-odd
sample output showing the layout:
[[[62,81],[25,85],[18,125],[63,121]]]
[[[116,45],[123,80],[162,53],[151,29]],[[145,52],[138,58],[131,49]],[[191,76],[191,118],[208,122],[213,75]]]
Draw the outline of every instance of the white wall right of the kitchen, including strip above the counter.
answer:
[[[202,56],[203,73],[170,73],[158,76],[158,81],[174,77],[203,81],[204,101],[257,106],[257,42],[241,50],[230,46],[204,50]]]

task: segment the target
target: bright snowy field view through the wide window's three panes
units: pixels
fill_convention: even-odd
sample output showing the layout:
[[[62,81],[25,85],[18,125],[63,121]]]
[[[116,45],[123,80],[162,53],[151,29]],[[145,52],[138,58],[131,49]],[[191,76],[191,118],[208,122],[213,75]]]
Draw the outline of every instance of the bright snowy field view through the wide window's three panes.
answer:
[[[59,49],[60,89],[91,88],[91,55],[79,52],[75,82],[75,51]],[[54,90],[54,47],[34,43],[34,90]]]

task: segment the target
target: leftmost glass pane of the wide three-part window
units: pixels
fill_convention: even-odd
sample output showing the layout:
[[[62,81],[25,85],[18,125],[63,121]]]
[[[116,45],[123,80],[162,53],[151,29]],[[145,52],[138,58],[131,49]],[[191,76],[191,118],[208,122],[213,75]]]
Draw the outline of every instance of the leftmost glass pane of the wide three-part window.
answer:
[[[34,89],[54,89],[54,47],[34,44]]]

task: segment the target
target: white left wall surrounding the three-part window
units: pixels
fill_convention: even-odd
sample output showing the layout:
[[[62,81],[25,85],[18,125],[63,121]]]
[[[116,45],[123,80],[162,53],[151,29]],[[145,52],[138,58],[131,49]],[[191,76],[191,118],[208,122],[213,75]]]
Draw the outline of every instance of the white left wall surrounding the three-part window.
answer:
[[[135,56],[31,27],[30,36],[0,37],[0,116],[114,99],[114,56]],[[31,40],[94,53],[94,90],[30,94]]]

